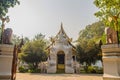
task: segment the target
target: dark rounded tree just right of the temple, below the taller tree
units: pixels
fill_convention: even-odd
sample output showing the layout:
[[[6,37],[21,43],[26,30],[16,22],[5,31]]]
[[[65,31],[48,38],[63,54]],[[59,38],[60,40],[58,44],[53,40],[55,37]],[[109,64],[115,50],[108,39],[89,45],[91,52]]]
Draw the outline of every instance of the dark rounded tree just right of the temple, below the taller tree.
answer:
[[[85,65],[84,70],[88,72],[88,66],[101,60],[100,47],[94,41],[83,40],[80,43],[77,45],[77,60]]]

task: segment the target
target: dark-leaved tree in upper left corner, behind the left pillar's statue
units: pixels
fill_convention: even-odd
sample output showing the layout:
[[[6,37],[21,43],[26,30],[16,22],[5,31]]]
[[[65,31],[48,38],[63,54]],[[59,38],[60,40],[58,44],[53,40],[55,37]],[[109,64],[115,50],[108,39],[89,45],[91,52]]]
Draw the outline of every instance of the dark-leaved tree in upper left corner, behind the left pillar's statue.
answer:
[[[6,16],[8,9],[14,7],[16,4],[20,4],[18,0],[0,0],[0,20],[1,20],[1,34],[0,43],[3,43],[3,33],[5,22],[9,22],[9,16]]]

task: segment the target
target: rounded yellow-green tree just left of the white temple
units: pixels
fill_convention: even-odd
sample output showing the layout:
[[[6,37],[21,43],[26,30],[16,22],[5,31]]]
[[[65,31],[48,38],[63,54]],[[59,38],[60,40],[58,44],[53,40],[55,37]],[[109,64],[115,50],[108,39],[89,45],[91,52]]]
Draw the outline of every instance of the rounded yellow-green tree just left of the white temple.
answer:
[[[33,39],[32,41],[27,42],[22,47],[21,59],[28,64],[31,64],[33,69],[38,68],[38,64],[41,61],[47,59],[47,55],[44,51],[46,47],[46,42],[44,41],[43,36],[40,36],[39,39]]]

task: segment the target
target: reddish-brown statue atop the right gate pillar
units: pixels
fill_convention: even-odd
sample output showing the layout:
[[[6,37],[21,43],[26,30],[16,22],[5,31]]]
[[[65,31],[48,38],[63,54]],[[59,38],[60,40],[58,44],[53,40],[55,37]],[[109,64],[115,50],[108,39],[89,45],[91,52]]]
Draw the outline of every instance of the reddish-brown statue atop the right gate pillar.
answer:
[[[106,43],[107,44],[118,43],[117,32],[114,29],[112,29],[110,27],[105,28],[105,34],[106,34]]]

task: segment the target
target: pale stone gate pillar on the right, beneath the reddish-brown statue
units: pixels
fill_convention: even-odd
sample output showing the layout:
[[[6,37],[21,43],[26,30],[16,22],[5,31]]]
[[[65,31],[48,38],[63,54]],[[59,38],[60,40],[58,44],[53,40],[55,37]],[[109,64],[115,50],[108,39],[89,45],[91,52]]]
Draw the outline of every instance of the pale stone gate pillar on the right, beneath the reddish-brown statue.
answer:
[[[120,44],[107,44],[102,47],[103,80],[120,80]]]

